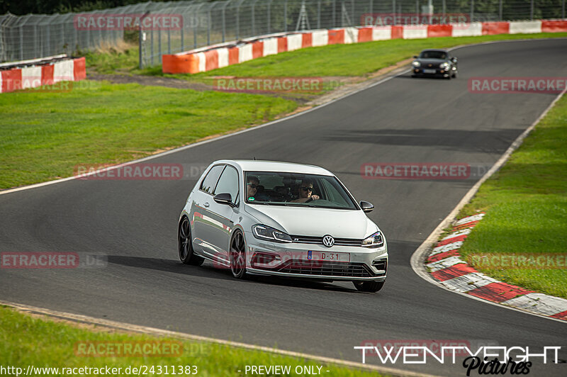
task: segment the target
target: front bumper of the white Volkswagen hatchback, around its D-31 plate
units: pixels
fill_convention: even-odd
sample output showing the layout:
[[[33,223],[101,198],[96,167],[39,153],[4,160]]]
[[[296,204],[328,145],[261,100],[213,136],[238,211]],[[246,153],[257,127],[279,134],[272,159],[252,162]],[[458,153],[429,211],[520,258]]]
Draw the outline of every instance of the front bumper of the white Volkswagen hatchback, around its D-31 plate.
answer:
[[[325,281],[385,281],[388,271],[387,244],[366,247],[322,244],[267,242],[245,232],[247,242],[247,272],[257,275],[313,278]],[[309,253],[312,252],[312,253]],[[314,260],[310,256],[324,253],[349,255],[348,261]]]

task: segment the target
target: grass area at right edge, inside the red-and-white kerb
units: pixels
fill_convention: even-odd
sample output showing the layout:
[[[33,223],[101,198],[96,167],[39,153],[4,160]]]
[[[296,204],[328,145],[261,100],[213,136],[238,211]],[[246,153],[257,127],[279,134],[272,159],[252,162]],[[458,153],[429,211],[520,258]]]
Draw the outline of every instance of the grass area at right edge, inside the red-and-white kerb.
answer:
[[[479,261],[490,254],[567,254],[567,96],[541,120],[459,217],[485,211],[459,253]],[[564,259],[563,259],[564,260]],[[546,262],[547,263],[547,262]],[[567,266],[560,269],[488,268],[501,281],[567,298]]]

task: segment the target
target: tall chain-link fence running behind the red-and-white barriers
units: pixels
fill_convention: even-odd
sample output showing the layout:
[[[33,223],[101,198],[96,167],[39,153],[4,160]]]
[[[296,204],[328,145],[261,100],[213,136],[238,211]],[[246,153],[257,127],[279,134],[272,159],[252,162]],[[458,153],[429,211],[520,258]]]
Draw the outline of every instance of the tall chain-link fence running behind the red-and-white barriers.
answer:
[[[181,25],[145,27],[140,21],[159,14],[177,15]],[[141,26],[116,27],[116,22],[120,23],[116,21],[117,16],[128,15],[137,16]],[[161,64],[162,54],[293,30],[442,23],[443,20],[539,20],[565,16],[566,0],[148,1],[88,13],[0,16],[0,60],[72,54],[77,50],[113,46],[130,37],[132,40],[139,38],[140,65],[151,66]],[[80,17],[88,19],[83,26],[77,22]],[[105,18],[106,23],[97,21]],[[112,27],[108,26],[111,18],[115,19]],[[90,23],[92,20],[95,21]]]

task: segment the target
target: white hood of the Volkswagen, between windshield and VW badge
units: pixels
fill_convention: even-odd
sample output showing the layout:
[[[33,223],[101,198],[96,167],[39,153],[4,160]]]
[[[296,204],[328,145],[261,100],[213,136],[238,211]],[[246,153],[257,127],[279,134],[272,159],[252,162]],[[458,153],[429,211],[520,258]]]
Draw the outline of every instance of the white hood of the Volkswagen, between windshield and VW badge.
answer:
[[[363,239],[378,230],[362,210],[248,205],[246,211],[288,235]]]

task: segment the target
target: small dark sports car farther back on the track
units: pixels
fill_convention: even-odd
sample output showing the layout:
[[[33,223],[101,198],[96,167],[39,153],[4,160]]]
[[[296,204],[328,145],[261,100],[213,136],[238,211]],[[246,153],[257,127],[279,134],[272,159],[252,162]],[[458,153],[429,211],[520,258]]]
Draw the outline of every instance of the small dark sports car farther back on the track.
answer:
[[[458,73],[456,57],[447,50],[423,50],[412,62],[412,77],[444,77],[451,79]]]

